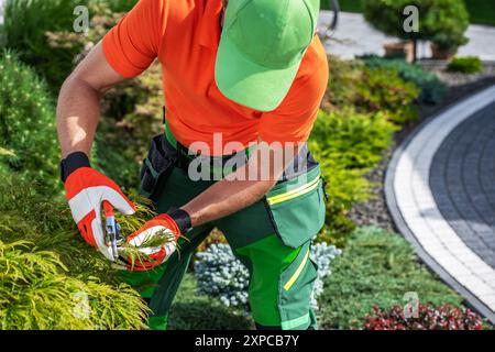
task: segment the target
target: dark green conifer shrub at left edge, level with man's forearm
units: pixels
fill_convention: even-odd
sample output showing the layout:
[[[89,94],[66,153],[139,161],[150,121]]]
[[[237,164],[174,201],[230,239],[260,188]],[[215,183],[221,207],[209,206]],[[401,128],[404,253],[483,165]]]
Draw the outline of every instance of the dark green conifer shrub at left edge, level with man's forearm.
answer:
[[[0,53],[0,167],[55,189],[58,161],[55,108],[46,84],[15,54]]]

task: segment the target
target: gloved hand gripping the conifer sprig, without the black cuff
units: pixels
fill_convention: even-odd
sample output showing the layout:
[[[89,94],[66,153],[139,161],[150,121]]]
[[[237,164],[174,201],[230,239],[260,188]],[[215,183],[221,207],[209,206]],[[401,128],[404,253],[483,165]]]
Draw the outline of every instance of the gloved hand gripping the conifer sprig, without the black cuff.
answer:
[[[124,263],[119,268],[143,272],[164,263],[176,251],[180,232],[176,220],[169,215],[163,213],[153,218],[125,239],[129,245],[139,248],[143,256],[132,260],[122,251],[120,257]],[[153,243],[155,241],[160,244]]]

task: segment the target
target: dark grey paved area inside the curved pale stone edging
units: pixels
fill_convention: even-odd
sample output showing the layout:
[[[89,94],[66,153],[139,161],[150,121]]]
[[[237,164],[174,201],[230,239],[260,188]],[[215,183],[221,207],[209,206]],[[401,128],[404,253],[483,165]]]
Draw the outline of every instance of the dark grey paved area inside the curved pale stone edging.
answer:
[[[431,164],[430,188],[452,229],[495,268],[495,103],[443,141]]]

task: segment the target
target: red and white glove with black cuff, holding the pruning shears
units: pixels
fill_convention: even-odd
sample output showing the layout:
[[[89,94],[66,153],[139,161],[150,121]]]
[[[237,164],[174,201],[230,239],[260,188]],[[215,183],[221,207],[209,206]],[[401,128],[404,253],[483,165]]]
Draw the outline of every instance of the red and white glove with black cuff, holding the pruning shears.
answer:
[[[82,152],[72,153],[63,160],[61,173],[74,221],[82,238],[113,261],[101,224],[102,202],[106,211],[116,208],[127,216],[135,212],[134,205],[114,182],[90,167],[89,158]]]

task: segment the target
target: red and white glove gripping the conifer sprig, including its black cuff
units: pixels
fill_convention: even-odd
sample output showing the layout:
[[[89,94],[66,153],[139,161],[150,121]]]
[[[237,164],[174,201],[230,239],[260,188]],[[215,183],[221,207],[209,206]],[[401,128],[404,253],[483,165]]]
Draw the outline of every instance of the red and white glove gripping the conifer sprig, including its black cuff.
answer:
[[[189,228],[189,215],[182,209],[153,218],[145,222],[140,230],[125,239],[129,244],[140,248],[140,251],[145,254],[143,258],[134,260],[134,262],[132,262],[130,258],[124,257],[124,255],[120,255],[119,258],[121,265],[117,267],[136,272],[154,268],[170,257],[177,249],[177,241],[180,233],[186,233]],[[162,245],[141,248],[143,243],[146,243],[156,235],[169,238],[168,241]]]

